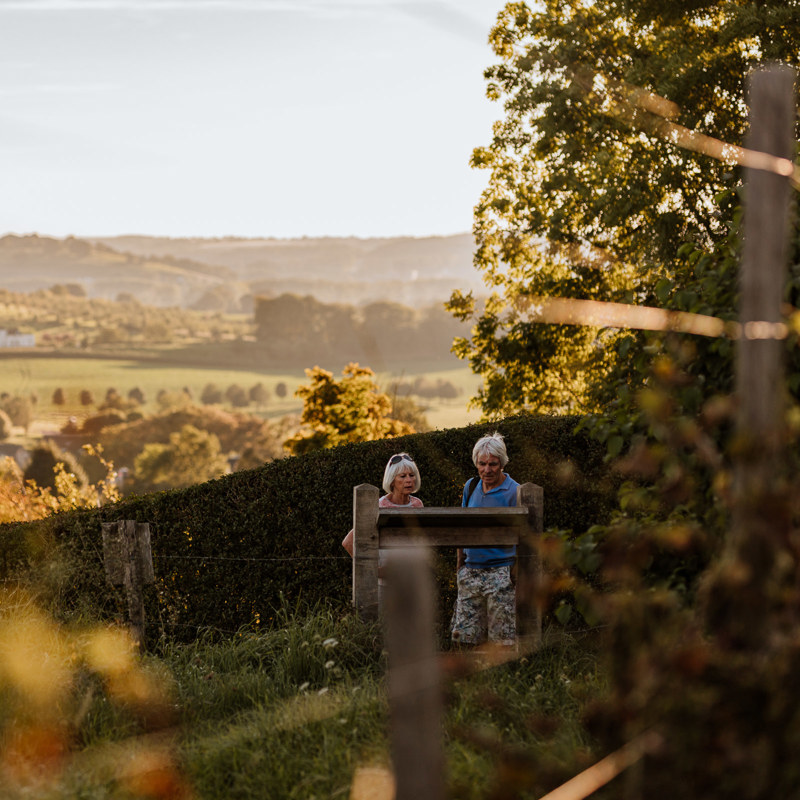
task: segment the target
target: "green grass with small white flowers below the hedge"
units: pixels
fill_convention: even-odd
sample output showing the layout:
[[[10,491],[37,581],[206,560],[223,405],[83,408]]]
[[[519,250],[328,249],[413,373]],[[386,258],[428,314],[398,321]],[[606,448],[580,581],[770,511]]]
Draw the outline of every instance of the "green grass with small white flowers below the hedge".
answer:
[[[590,758],[580,716],[603,691],[593,653],[550,632],[528,658],[448,681],[450,796],[538,797]],[[160,701],[122,702],[113,681],[84,674],[65,769],[39,794],[6,796],[347,798],[357,769],[390,764],[384,670],[379,629],[324,608],[284,609],[271,630],[231,640],[162,641],[141,667]]]

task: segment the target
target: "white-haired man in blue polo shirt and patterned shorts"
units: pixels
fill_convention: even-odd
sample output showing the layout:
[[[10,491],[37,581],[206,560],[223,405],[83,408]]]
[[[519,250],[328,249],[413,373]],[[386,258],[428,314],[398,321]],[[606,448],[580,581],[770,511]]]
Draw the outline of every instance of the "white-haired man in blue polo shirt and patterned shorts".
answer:
[[[503,437],[493,433],[479,439],[472,449],[479,478],[464,486],[464,508],[498,508],[517,504],[519,484],[503,471],[508,454]],[[458,599],[451,638],[459,645],[485,641],[512,646],[517,637],[516,590],[512,570],[514,545],[465,547],[458,550]]]

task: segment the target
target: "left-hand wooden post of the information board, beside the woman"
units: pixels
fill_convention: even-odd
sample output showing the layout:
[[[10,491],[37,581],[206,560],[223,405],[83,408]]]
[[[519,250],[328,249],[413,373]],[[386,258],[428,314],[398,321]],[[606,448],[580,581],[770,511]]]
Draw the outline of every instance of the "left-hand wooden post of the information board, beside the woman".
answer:
[[[376,620],[378,605],[377,487],[353,489],[353,605],[362,619]]]

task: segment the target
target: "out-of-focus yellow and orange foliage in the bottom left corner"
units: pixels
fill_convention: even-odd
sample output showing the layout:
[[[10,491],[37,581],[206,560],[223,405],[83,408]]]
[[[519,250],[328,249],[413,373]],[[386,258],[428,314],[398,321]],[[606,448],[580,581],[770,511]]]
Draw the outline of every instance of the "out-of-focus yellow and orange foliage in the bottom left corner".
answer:
[[[116,627],[67,627],[25,592],[0,596],[0,786],[4,800],[189,800],[176,758],[169,675]],[[98,734],[105,749],[82,754]],[[82,775],[76,788],[76,775]],[[88,781],[87,781],[88,777]],[[89,784],[88,786],[86,784]],[[92,797],[100,796],[96,793]]]

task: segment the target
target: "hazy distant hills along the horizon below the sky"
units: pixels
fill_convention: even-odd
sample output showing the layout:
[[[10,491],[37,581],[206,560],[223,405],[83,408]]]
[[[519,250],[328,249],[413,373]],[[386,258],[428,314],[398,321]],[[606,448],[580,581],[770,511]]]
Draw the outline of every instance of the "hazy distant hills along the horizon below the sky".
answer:
[[[150,306],[250,312],[255,296],[323,303],[442,303],[482,291],[469,234],[427,238],[0,238],[0,288],[72,284],[87,297],[129,295]]]

